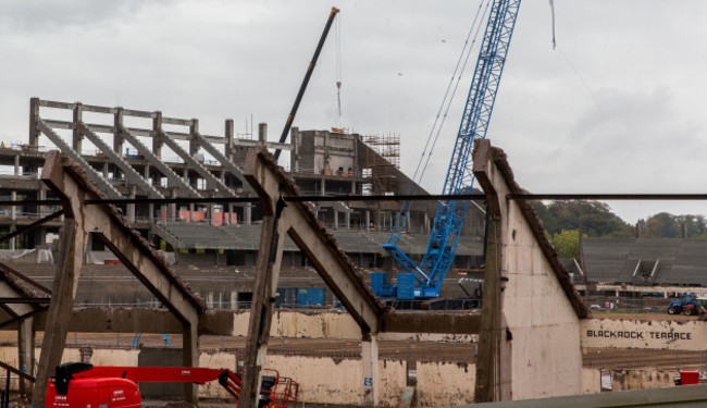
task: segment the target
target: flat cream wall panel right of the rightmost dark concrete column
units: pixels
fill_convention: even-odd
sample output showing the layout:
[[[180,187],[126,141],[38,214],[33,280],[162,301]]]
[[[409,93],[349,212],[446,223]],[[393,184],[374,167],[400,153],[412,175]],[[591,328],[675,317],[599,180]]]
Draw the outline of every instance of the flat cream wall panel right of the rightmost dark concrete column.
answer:
[[[506,222],[503,276],[508,282],[501,305],[512,336],[509,342],[504,336],[511,398],[580,394],[580,319],[516,201],[508,206]]]

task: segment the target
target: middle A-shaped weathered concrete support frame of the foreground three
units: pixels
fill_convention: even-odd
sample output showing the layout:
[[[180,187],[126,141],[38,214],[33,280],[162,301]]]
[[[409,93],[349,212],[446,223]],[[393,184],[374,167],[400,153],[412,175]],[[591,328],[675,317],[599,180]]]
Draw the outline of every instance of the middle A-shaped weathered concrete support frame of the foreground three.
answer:
[[[380,331],[380,321],[387,309],[363,283],[362,276],[308,205],[289,202],[285,206],[281,200],[281,197],[298,196],[299,189],[284,170],[277,166],[276,160],[265,147],[248,151],[244,175],[260,197],[263,211],[240,398],[240,407],[250,408],[258,395],[262,362],[268,349],[284,233],[307,255],[317,272],[346,307],[361,329],[362,338],[370,346],[369,351],[377,349],[374,335]],[[364,371],[373,375],[377,370],[377,351],[368,353],[367,356],[370,367]],[[374,404],[377,381],[369,381],[372,382],[371,401]]]

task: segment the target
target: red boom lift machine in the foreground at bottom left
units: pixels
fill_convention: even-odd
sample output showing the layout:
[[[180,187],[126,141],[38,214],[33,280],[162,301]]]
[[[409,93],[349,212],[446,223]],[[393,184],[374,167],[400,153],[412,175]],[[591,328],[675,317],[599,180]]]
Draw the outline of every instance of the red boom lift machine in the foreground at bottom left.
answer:
[[[263,370],[258,407],[295,408],[299,384]],[[140,382],[219,384],[236,399],[240,396],[240,374],[231,370],[198,367],[94,367],[69,362],[57,367],[47,386],[47,408],[140,408]]]

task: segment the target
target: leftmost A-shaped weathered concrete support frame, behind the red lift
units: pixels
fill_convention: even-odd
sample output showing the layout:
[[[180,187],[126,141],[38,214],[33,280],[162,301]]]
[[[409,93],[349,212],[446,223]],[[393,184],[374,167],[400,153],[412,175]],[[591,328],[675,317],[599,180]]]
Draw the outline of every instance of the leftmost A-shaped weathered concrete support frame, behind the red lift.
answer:
[[[97,236],[123,264],[177,318],[185,336],[184,364],[198,361],[199,314],[206,310],[203,300],[191,294],[171,270],[164,258],[132,230],[114,206],[86,206],[88,199],[106,196],[88,182],[80,168],[57,151],[45,161],[41,180],[60,197],[65,214],[61,261],[54,277],[42,353],[37,372],[33,405],[44,406],[49,373],[61,361],[69,321],[88,236]],[[186,399],[197,404],[195,386],[185,386]]]

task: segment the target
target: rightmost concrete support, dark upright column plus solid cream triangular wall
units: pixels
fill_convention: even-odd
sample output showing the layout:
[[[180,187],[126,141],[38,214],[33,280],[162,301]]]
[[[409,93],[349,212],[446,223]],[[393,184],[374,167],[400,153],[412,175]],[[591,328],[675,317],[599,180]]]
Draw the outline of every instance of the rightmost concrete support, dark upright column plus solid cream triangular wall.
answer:
[[[580,319],[588,314],[503,150],[476,141],[474,175],[489,211],[476,401],[582,392]]]

